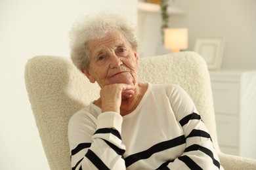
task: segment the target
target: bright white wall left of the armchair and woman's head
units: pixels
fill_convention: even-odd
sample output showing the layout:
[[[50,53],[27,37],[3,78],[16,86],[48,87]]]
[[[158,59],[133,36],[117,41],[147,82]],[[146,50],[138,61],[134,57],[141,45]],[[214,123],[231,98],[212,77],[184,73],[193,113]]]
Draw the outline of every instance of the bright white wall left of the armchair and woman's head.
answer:
[[[0,169],[49,169],[24,84],[26,61],[68,57],[68,30],[81,14],[110,9],[137,22],[136,2],[0,1]]]

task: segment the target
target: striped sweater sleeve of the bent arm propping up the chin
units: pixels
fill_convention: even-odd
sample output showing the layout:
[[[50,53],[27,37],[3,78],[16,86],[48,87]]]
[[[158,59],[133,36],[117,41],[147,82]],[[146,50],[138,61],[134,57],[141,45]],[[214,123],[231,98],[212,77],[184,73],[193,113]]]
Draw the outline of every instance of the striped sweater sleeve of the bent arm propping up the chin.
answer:
[[[72,169],[125,169],[122,117],[104,112],[94,118],[75,114],[68,125]]]

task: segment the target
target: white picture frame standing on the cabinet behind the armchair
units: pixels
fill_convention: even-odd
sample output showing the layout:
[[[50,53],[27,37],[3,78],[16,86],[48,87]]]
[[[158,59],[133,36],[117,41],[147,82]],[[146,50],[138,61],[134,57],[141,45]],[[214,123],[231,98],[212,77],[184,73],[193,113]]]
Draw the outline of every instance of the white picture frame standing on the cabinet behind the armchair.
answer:
[[[202,37],[196,39],[194,52],[200,54],[209,70],[220,70],[223,59],[224,37]]]

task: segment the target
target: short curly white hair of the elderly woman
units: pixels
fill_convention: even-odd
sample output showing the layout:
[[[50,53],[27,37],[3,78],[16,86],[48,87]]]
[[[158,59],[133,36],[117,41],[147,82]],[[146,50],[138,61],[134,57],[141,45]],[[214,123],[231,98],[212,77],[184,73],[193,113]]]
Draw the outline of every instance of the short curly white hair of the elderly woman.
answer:
[[[70,30],[70,55],[77,69],[88,69],[90,54],[87,42],[100,39],[113,29],[119,29],[131,47],[137,50],[138,38],[135,25],[118,14],[100,12],[75,22]]]

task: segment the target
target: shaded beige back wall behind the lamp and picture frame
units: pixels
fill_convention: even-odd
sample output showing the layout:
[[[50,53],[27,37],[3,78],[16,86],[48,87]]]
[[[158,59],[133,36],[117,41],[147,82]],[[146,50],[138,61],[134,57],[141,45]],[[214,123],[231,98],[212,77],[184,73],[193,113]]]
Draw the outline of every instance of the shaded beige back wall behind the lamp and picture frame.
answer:
[[[169,26],[188,27],[188,50],[194,49],[198,37],[223,36],[222,69],[256,69],[255,0],[170,0],[170,4],[186,11],[184,15],[171,14]],[[144,12],[139,19],[142,54],[155,55],[161,42],[160,14]]]

